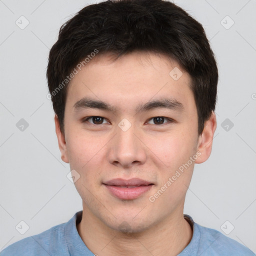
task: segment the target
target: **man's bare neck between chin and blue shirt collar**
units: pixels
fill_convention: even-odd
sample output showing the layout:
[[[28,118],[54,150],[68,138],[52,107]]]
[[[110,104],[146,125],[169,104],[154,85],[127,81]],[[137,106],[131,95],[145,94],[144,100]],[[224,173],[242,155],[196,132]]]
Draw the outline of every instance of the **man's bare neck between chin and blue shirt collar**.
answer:
[[[174,256],[187,246],[193,233],[183,218],[183,209],[142,232],[123,233],[109,228],[84,207],[77,231],[88,249],[99,256]]]

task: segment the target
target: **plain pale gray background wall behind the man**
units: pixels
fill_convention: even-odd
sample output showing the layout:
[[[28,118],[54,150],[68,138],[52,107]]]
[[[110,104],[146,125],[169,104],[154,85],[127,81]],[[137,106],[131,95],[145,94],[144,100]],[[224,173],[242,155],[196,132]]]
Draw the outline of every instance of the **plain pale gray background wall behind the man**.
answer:
[[[45,71],[60,25],[94,2],[0,0],[0,249],[82,209],[60,158]],[[202,23],[219,67],[212,153],[195,166],[184,213],[222,233],[234,226],[227,236],[256,252],[256,1],[174,2]]]

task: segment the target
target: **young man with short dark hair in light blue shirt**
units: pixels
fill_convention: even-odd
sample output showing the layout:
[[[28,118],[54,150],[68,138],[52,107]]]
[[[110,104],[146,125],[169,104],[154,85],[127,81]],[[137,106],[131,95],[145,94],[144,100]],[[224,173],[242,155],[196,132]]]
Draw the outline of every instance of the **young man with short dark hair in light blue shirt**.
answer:
[[[49,53],[61,159],[82,211],[5,255],[254,255],[183,215],[210,155],[218,72],[202,26],[168,1],[86,6]]]

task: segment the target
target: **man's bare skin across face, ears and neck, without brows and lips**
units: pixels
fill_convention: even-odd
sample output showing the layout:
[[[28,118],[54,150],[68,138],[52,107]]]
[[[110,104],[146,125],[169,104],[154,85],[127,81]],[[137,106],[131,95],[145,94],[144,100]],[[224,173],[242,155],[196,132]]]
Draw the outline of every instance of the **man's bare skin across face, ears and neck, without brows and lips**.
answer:
[[[192,229],[183,218],[183,206],[194,163],[210,155],[216,117],[197,132],[197,111],[190,76],[174,80],[169,72],[179,65],[151,52],[132,52],[112,61],[111,55],[94,57],[71,80],[67,89],[64,134],[57,116],[55,127],[61,158],[80,175],[74,183],[82,198],[82,220],[77,231],[97,255],[177,255],[189,243]],[[100,99],[116,112],[96,108],[74,109],[84,96]],[[172,97],[183,110],[155,108],[141,113],[137,104]],[[84,117],[102,116],[97,124]],[[173,119],[157,124],[153,117]],[[126,118],[127,131],[118,123]],[[163,120],[163,119],[161,119]],[[91,124],[91,125],[89,125]],[[192,164],[168,188],[149,201],[189,157]],[[102,184],[112,178],[138,177],[154,185],[136,199],[114,197]],[[122,227],[122,228],[121,228]]]

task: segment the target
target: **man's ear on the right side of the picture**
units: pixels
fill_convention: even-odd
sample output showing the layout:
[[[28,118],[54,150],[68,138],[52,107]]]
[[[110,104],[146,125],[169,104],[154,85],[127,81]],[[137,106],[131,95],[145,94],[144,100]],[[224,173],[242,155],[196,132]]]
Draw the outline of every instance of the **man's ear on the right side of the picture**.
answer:
[[[206,161],[211,152],[213,135],[216,129],[216,115],[212,111],[211,116],[204,123],[204,128],[202,133],[199,135],[197,151],[201,154],[195,160],[195,163],[202,163]]]

